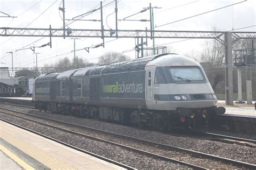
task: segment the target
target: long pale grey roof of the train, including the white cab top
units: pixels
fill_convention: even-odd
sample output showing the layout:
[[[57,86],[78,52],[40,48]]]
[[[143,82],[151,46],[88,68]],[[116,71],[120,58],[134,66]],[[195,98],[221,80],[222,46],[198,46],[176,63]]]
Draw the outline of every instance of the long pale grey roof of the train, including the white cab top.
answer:
[[[81,75],[100,75],[100,74],[112,74],[112,73],[120,73],[120,72],[132,72],[138,70],[144,70],[146,66],[149,65],[157,65],[157,66],[166,66],[166,65],[180,65],[180,62],[185,61],[185,63],[190,63],[192,65],[199,65],[194,60],[186,58],[185,56],[181,56],[174,53],[165,53],[159,55],[146,56],[144,58],[138,58],[132,61],[123,61],[123,62],[114,62],[104,66],[91,66],[79,69],[67,70],[61,73],[49,73],[42,74],[37,77],[36,81],[46,80],[49,77],[52,79],[62,79],[73,76],[81,76]],[[200,65],[199,65],[200,66]]]

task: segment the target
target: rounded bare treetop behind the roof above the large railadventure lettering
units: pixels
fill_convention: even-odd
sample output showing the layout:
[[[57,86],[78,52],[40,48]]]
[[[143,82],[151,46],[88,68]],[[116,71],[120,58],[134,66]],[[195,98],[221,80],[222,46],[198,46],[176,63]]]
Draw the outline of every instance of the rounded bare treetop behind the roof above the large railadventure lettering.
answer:
[[[127,60],[130,60],[129,56],[126,56],[123,53],[107,52],[102,56],[100,56],[98,62],[100,64],[105,64],[105,63],[120,62],[120,61],[127,61]]]

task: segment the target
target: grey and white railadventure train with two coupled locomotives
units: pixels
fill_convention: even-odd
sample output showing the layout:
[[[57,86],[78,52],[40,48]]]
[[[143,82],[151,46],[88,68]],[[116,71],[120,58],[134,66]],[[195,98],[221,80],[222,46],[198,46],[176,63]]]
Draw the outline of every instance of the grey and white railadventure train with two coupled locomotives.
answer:
[[[39,110],[158,130],[208,126],[225,113],[203,67],[174,53],[42,74],[32,100]]]

